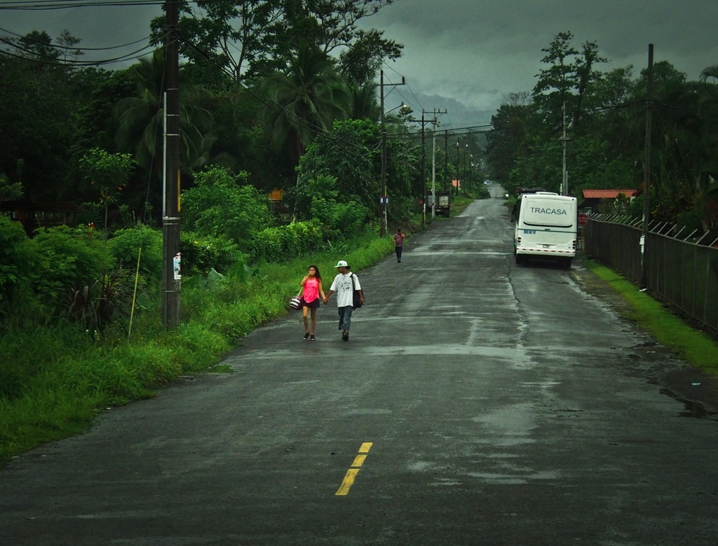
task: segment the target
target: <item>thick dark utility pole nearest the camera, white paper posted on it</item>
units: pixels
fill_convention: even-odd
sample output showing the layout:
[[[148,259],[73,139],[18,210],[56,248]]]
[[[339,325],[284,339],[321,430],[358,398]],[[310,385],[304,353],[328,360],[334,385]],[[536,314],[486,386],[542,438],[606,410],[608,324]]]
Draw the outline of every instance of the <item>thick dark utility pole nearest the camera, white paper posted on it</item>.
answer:
[[[165,2],[167,32],[164,37],[164,80],[167,82],[164,161],[164,214],[162,215],[162,322],[167,328],[180,324],[180,47],[178,0]]]

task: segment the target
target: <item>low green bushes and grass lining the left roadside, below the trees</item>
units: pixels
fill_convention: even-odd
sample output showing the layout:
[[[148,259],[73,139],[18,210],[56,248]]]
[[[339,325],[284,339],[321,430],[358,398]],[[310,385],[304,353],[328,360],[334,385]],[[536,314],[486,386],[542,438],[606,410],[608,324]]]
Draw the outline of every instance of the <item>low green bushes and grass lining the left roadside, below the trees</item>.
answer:
[[[452,216],[472,201],[457,196]],[[405,219],[404,226],[416,232],[421,216]],[[298,247],[311,248],[302,254],[285,249],[287,259],[256,259],[252,265],[236,245],[190,234],[197,240],[187,244],[195,252],[187,253],[181,325],[167,330],[157,283],[159,231],[119,230],[105,240],[91,229],[62,227],[30,239],[17,222],[0,216],[0,239],[7,243],[0,249],[7,264],[0,267],[0,308],[6,311],[0,315],[0,464],[78,434],[104,409],[154,396],[183,375],[228,371],[220,364],[223,355],[254,327],[287,312],[309,264],[317,264],[326,278],[337,259],[359,271],[393,251],[391,233],[381,237],[373,224],[316,246],[295,238]],[[63,289],[84,275],[98,280]]]

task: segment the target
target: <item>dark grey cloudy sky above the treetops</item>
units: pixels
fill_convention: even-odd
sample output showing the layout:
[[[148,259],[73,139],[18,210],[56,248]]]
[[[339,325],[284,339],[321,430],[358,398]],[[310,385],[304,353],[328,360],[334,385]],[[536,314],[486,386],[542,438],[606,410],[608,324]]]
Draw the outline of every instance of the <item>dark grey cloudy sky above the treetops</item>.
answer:
[[[150,19],[161,13],[151,5],[1,9],[36,3],[0,1],[0,35],[45,30],[56,37],[68,29],[83,47],[114,47],[146,38]],[[697,80],[701,70],[718,64],[717,24],[718,0],[396,0],[363,27],[381,29],[405,46],[404,57],[384,67],[387,82],[404,76],[408,84],[396,87],[388,104],[403,100],[419,112],[447,108],[457,119],[459,110],[474,110],[472,123],[488,123],[506,95],[531,91],[541,48],[559,32],[572,32],[577,49],[596,42],[610,60],[606,70],[633,64],[638,75],[654,44],[656,62],[671,62]],[[141,45],[93,56],[116,57]]]

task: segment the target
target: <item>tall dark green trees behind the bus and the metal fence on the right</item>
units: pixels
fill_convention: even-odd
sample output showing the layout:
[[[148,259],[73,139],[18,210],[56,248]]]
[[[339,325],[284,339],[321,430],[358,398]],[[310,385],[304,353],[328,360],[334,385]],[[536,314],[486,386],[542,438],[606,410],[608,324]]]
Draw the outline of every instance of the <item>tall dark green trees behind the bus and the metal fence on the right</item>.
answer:
[[[557,34],[543,50],[533,92],[510,95],[493,116],[491,176],[511,193],[519,186],[561,191],[565,128],[570,193],[643,192],[648,71],[601,72],[597,44],[574,47],[573,39]],[[651,214],[691,230],[718,227],[717,75],[708,67],[689,81],[668,62],[653,65]]]

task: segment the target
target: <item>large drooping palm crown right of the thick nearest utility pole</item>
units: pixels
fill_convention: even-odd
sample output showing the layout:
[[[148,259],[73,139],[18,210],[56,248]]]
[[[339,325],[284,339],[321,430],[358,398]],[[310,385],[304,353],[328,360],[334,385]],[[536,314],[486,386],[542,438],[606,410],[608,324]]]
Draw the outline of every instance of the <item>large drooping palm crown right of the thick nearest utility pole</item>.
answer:
[[[262,118],[271,145],[285,149],[294,165],[312,140],[347,117],[350,97],[334,62],[317,47],[299,44],[284,72],[262,82],[266,97]]]

